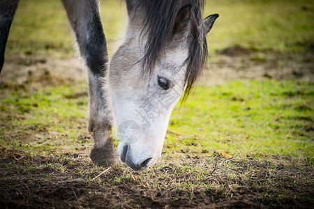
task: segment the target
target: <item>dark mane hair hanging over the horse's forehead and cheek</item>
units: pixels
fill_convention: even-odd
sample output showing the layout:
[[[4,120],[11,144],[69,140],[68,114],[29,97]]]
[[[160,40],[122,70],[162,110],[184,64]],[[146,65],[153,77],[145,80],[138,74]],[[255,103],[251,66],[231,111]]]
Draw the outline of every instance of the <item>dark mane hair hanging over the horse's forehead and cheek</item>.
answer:
[[[186,91],[185,100],[193,84],[200,77],[202,67],[207,60],[207,42],[204,33],[202,10],[204,0],[135,0],[127,1],[128,13],[130,10],[141,8],[144,10],[141,35],[146,37],[145,54],[142,61],[142,68],[145,72],[151,73],[160,54],[165,49],[167,42],[172,38],[177,14],[190,5],[190,35],[188,36],[188,58],[186,59],[186,77],[184,85]]]

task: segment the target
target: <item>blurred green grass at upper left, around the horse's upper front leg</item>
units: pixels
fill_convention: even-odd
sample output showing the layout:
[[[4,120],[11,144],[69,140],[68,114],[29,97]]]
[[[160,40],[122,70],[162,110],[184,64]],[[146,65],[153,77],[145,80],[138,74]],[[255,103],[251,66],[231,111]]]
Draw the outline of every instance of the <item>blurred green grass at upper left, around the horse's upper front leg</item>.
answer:
[[[101,18],[112,54],[127,22],[126,6],[119,1],[102,1]],[[21,1],[8,37],[7,54],[74,55],[74,35],[61,1]]]

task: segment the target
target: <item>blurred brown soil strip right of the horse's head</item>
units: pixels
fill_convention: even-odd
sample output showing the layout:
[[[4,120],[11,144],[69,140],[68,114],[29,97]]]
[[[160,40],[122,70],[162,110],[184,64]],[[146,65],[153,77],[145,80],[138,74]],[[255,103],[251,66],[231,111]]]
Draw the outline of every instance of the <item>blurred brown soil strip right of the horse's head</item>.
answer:
[[[257,51],[234,46],[211,55],[200,84],[217,85],[234,79],[292,79],[314,82],[314,53]]]

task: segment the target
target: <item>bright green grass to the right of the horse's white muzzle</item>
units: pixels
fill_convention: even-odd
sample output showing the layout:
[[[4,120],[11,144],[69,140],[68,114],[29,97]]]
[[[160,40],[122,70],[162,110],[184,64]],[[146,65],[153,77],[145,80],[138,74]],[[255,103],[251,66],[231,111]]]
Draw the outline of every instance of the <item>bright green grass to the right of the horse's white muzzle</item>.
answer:
[[[197,86],[172,113],[166,146],[183,153],[313,157],[314,85],[234,81]],[[312,159],[313,160],[313,159]]]

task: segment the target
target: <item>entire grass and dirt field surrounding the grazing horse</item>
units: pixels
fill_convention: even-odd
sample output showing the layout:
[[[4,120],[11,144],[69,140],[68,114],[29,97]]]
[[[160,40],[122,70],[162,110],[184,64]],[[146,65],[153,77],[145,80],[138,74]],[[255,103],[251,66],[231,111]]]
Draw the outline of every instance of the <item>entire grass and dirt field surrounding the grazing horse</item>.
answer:
[[[314,208],[313,3],[207,1],[211,13],[209,67],[139,172],[92,164],[66,13],[21,1],[0,75],[0,208]],[[124,2],[101,15],[111,56]]]

